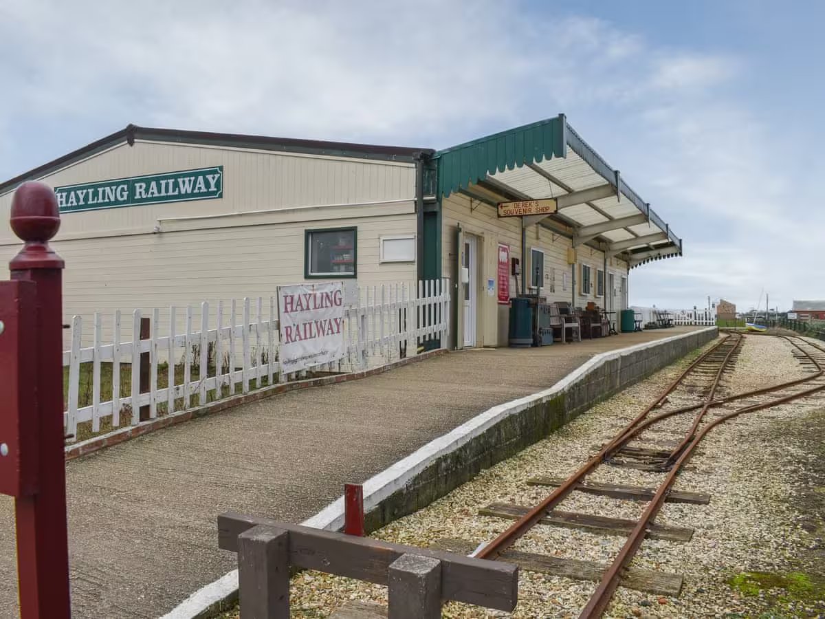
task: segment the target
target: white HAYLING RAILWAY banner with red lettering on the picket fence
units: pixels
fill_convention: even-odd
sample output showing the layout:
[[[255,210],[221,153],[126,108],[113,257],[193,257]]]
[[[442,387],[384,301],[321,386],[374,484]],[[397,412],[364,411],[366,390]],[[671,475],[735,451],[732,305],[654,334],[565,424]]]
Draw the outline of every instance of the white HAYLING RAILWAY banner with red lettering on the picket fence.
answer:
[[[342,359],[344,287],[340,281],[278,286],[281,371],[289,374]]]

